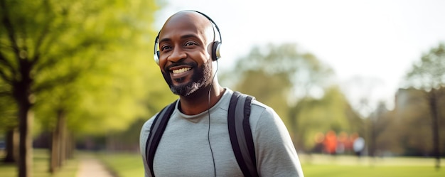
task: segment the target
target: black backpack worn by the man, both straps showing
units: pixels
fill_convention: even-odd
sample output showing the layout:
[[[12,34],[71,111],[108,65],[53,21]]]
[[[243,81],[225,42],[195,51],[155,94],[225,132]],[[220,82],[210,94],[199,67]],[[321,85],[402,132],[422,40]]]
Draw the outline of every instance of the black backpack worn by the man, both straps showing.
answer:
[[[233,92],[227,114],[227,127],[232,149],[244,176],[258,176],[257,159],[249,122],[252,100],[254,100],[254,97],[250,95]],[[168,119],[173,114],[175,105],[176,101],[164,107],[155,117],[153,124],[151,124],[145,149],[146,161],[149,165],[151,176],[154,176],[153,160],[156,149],[167,127]]]

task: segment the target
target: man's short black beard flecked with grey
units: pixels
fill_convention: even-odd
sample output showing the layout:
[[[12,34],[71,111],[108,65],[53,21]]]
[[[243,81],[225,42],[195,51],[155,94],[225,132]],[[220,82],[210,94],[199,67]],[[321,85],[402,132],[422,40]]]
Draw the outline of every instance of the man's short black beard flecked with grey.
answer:
[[[212,77],[211,65],[212,62],[207,62],[198,67],[196,63],[176,63],[168,68],[175,65],[190,65],[193,69],[192,77],[189,82],[183,83],[181,85],[173,85],[173,80],[171,79],[171,75],[168,72],[161,72],[163,75],[163,79],[166,80],[168,87],[170,87],[171,92],[175,95],[180,96],[188,96],[196,92],[196,90],[204,87],[208,82],[210,82],[210,78]]]

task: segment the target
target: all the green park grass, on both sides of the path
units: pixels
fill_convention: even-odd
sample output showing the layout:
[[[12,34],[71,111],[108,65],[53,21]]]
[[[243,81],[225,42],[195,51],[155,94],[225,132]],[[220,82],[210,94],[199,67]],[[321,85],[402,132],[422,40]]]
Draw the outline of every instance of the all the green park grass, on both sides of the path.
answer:
[[[96,155],[119,177],[144,176],[144,167],[139,154],[100,152],[93,155]],[[371,159],[365,157],[358,159],[354,156],[326,156],[320,154],[311,156],[300,154],[299,157],[306,177],[445,176],[445,167],[443,165],[445,159],[441,159],[442,167],[436,170],[434,168],[434,159],[431,158],[392,157]],[[46,150],[34,150],[33,159],[34,177],[51,176],[48,173],[48,152]],[[78,159],[68,161],[58,173],[51,177],[74,177],[78,163]],[[0,176],[17,176],[16,167],[0,163]]]

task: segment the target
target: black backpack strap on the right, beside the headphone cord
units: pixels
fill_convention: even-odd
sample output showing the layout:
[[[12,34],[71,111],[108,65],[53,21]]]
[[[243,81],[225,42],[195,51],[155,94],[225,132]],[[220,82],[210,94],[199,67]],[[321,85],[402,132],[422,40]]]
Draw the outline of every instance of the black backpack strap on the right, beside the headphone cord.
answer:
[[[254,97],[233,92],[227,114],[230,141],[244,176],[258,176],[257,159],[250,129],[250,104]]]

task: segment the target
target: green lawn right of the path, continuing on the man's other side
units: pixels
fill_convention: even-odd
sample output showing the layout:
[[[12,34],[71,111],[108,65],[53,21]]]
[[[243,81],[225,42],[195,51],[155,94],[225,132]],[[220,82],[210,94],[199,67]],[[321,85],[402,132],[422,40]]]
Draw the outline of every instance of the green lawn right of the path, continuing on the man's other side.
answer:
[[[101,154],[100,158],[121,177],[144,174],[139,154]],[[301,155],[300,160],[306,177],[445,176],[445,167],[436,171],[434,159],[427,158],[358,159],[354,156]]]

